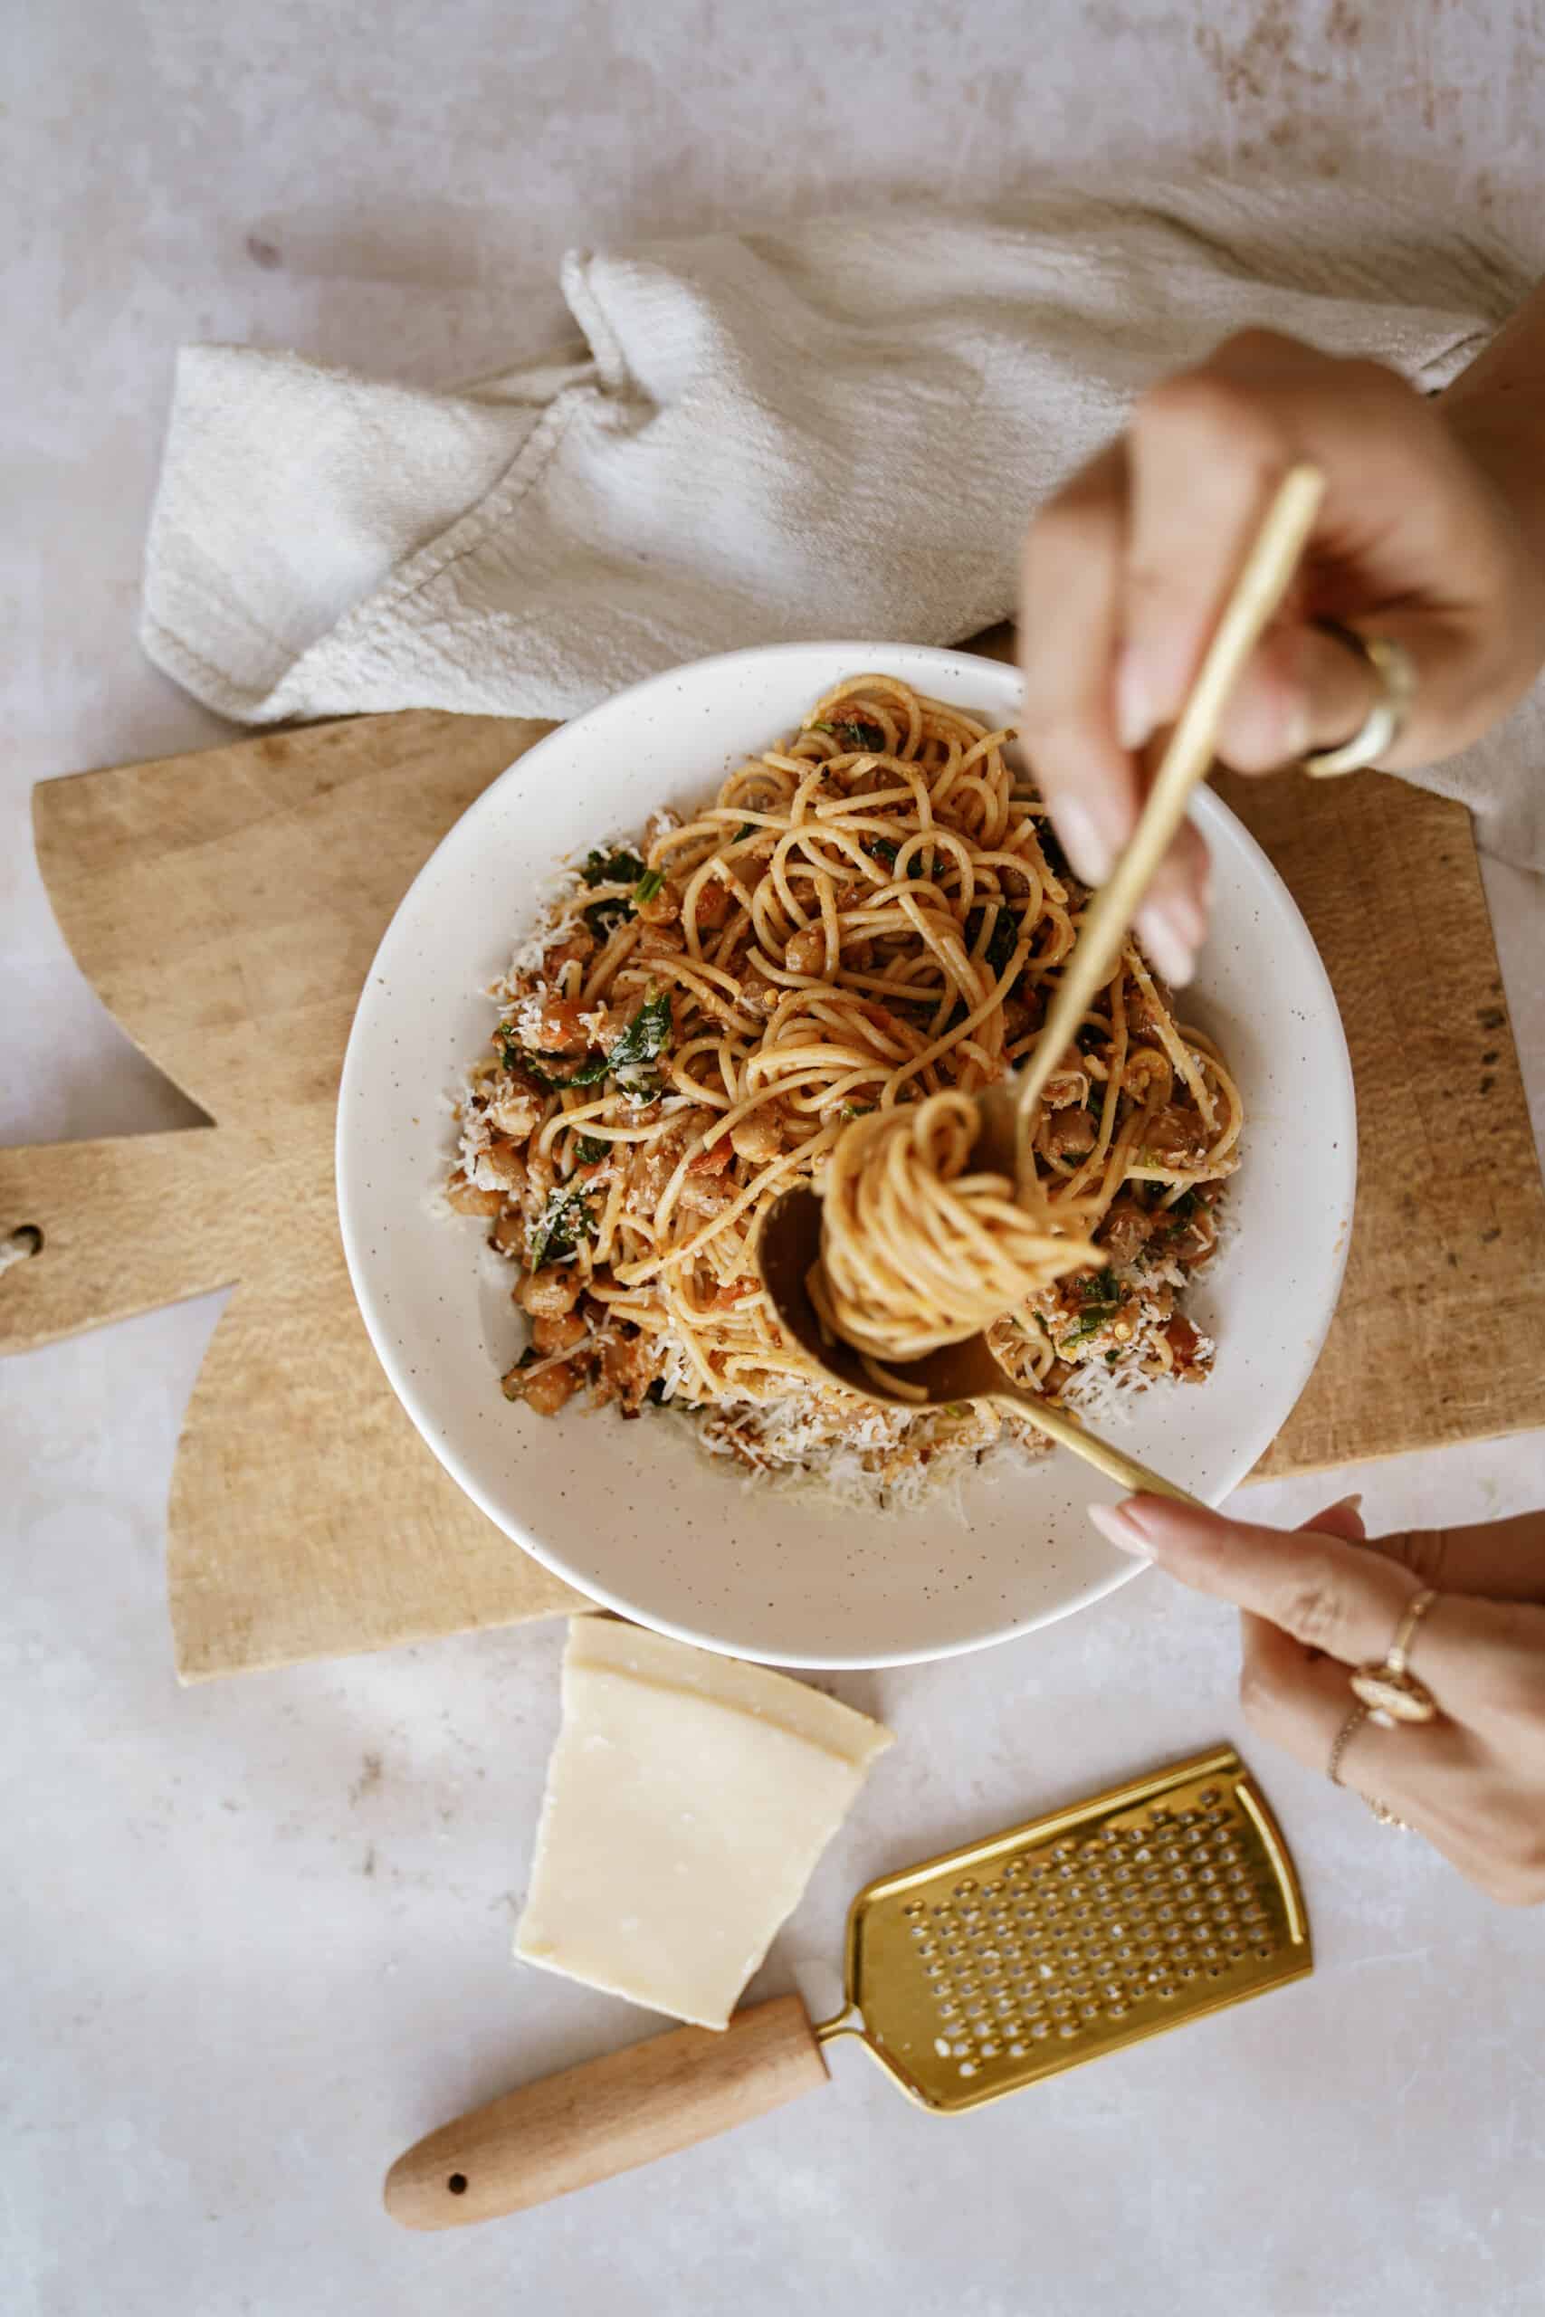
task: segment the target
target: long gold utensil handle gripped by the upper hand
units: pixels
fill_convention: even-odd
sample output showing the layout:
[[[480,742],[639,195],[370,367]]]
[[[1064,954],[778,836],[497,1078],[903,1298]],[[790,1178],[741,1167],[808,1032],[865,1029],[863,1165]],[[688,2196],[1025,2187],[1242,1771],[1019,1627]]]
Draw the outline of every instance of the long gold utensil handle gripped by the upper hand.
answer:
[[[1316,466],[1288,468],[1276,487],[1260,531],[1239,565],[1230,598],[1223,605],[1223,616],[1207,646],[1195,684],[1165,741],[1133,839],[1112,869],[1110,883],[1100,887],[1093,908],[1084,918],[1084,929],[1063,969],[1052,1013],[1015,1087],[1019,1101],[1019,1182],[1028,1182],[1031,1112],[1045,1091],[1047,1077],[1052,1077],[1056,1064],[1072,1045],[1089,1001],[1110,980],[1121,943],[1137,915],[1137,904],[1186,818],[1191,790],[1211,769],[1223,709],[1244,674],[1244,663],[1265,635],[1267,621],[1288,593],[1288,582],[1313,528],[1323,491],[1325,477]]]

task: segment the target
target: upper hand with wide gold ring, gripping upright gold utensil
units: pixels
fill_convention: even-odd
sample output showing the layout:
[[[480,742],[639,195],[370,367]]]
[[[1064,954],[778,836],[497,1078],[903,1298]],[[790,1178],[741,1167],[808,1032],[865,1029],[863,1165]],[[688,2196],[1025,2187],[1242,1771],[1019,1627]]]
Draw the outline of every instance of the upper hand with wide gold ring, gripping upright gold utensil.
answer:
[[[1144,394],[1026,540],[1024,744],[1091,885],[1133,832],[1140,751],[1179,714],[1295,459],[1325,473],[1325,498],[1295,598],[1223,721],[1225,765],[1269,772],[1364,723],[1376,679],[1318,619],[1411,653],[1418,695],[1387,772],[1478,739],[1545,660],[1545,297],[1438,403],[1376,361],[1244,331]],[[1204,929],[1207,855],[1186,827],[1137,931],[1186,982]]]

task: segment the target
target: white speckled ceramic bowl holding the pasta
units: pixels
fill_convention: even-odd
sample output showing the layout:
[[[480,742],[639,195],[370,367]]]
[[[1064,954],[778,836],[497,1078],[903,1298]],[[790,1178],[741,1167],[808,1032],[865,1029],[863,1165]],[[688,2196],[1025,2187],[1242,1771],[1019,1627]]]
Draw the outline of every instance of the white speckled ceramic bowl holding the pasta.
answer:
[[[484,1226],[433,1212],[447,1096],[482,1050],[489,982],[565,857],[702,799],[845,674],[883,670],[989,723],[1010,667],[910,644],[781,644],[653,677],[563,725],[496,781],[403,899],[366,978],[338,1096],[338,1207],[354,1293],[403,1406],[445,1469],[528,1552],[665,1633],[783,1666],[889,1666],[1005,1640],[1133,1576],[1084,1518],[1114,1490],[1068,1455],[913,1513],[746,1485],[669,1416],[507,1406],[510,1270]],[[1346,1040],[1309,929],[1216,797],[1195,802],[1214,924],[1186,1015],[1249,1105],[1225,1251],[1188,1309],[1209,1383],[1140,1395],[1121,1443],[1209,1501],[1283,1425],[1337,1304],[1355,1186]]]

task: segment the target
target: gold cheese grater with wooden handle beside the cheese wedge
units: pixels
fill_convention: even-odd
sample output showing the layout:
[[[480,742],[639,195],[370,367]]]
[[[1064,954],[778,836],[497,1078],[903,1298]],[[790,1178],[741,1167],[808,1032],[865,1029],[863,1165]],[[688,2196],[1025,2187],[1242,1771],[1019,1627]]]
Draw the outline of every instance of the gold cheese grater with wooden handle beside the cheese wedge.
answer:
[[[412,2229],[517,2213],[762,2115],[857,2037],[936,2115],[1184,2027],[1313,1969],[1288,1847],[1232,1747],[871,1881],[845,2002],[676,2027],[431,2132],[387,2176]]]

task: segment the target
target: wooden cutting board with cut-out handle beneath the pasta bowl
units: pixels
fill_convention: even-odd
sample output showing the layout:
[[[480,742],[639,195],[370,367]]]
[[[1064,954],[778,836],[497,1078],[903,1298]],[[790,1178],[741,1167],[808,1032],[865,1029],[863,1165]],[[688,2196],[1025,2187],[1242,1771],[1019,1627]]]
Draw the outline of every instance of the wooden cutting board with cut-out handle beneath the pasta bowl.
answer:
[[[544,730],[361,716],[37,790],[69,948],[215,1124],[0,1152],[0,1244],[42,1233],[0,1272],[0,1351],[234,1284],[171,1483],[185,1680],[579,1603],[391,1397],[331,1163],[375,943],[452,820]],[[1545,1198],[1466,816],[1367,774],[1221,785],[1320,943],[1362,1121],[1341,1309],[1260,1471],[1545,1425]]]

